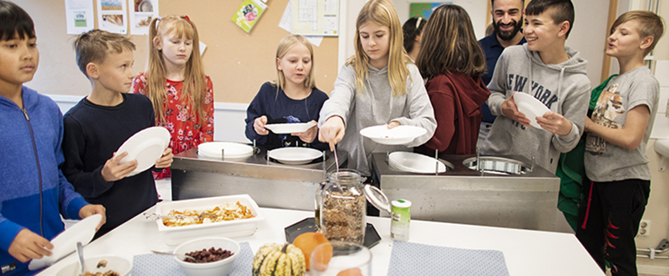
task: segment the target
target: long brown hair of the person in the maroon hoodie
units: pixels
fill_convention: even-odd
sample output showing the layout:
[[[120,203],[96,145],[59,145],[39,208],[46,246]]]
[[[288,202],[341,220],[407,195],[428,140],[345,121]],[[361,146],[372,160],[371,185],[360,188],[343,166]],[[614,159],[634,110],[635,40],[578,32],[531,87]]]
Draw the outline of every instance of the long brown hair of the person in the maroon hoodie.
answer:
[[[466,10],[444,4],[430,14],[416,66],[428,80],[453,73],[481,77],[486,72],[486,55]]]

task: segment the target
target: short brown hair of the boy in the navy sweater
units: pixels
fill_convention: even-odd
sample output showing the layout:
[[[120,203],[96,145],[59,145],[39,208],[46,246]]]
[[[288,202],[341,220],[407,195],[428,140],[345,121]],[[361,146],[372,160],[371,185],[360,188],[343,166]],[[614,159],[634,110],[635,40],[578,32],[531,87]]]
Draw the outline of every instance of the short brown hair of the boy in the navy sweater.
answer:
[[[123,50],[134,51],[135,46],[128,37],[114,34],[105,30],[90,30],[79,34],[72,43],[74,52],[77,52],[77,66],[88,77],[86,66],[91,62],[103,62],[107,53],[121,53]]]

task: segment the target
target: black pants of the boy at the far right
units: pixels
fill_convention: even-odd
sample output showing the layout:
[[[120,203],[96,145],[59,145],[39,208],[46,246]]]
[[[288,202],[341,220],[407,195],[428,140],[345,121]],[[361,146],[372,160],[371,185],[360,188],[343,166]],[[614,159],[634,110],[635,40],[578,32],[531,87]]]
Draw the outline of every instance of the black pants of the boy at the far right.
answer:
[[[650,181],[590,182],[583,185],[583,194],[576,237],[602,270],[606,260],[612,275],[636,276],[634,238],[648,203]]]

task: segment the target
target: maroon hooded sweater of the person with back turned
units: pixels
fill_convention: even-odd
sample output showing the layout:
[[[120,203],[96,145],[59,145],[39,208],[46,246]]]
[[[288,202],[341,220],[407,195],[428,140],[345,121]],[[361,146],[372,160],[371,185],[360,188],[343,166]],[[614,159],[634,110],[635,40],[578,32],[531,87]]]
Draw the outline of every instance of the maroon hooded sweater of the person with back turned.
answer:
[[[426,84],[428,96],[435,108],[437,130],[426,144],[416,148],[416,152],[468,155],[476,153],[476,141],[481,124],[481,105],[490,96],[481,77],[448,74],[439,75]]]

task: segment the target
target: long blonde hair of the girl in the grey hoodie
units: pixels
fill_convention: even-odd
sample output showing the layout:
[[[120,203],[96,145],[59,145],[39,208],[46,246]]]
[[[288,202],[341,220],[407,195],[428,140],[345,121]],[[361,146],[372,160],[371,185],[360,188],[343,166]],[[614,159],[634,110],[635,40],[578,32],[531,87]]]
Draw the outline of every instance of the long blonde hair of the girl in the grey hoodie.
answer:
[[[371,0],[365,4],[358,14],[355,23],[355,55],[346,59],[346,65],[350,65],[355,70],[356,87],[361,93],[365,89],[365,78],[368,75],[368,65],[370,58],[362,48],[360,41],[360,28],[366,23],[374,22],[381,26],[386,26],[390,30],[388,50],[388,81],[392,88],[393,96],[406,95],[406,78],[410,77],[409,69],[406,63],[409,56],[403,47],[402,25],[397,17],[395,6],[390,0]]]

